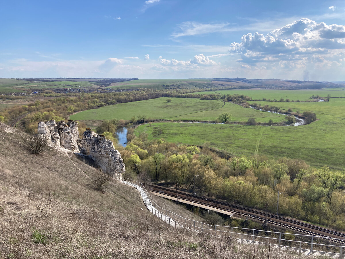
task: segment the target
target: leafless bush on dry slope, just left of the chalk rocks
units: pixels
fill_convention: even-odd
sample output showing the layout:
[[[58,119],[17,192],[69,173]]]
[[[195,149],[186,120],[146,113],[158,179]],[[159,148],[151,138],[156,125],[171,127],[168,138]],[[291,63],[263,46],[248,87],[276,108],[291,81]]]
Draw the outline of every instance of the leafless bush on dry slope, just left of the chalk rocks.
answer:
[[[31,154],[40,154],[51,151],[55,146],[52,145],[49,138],[43,134],[22,135],[23,143]]]

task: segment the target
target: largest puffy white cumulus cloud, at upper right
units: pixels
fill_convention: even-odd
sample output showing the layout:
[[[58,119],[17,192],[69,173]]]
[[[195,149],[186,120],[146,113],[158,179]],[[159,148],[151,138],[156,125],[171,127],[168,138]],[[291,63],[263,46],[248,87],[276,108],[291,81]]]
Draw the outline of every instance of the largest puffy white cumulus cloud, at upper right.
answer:
[[[239,62],[276,62],[305,60],[311,55],[321,55],[326,60],[337,59],[345,49],[345,26],[327,25],[302,18],[266,36],[255,32],[243,35],[240,42],[230,45],[230,53],[241,56]],[[337,61],[332,60],[332,61]]]

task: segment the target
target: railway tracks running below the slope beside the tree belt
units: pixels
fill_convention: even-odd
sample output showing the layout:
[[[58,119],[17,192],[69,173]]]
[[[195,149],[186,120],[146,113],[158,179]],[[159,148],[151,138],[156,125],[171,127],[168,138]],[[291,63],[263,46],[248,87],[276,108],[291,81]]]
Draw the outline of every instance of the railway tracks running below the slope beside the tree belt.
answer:
[[[176,189],[174,190],[174,189],[170,189],[170,188],[166,188],[166,187],[162,187],[158,185],[151,185],[150,188],[152,192],[156,192],[156,193],[164,192],[165,195],[176,198]],[[253,220],[265,222],[265,212],[263,211],[245,208],[245,207],[241,207],[234,204],[216,201],[213,199],[207,199],[208,200],[207,202],[206,198],[204,197],[193,195],[193,194],[183,192],[183,191],[178,191],[177,193],[178,193],[178,199],[191,201],[191,202],[198,203],[204,206],[208,205],[208,207],[210,208],[216,208],[220,210],[229,211],[242,217],[248,217]],[[281,217],[272,213],[267,213],[267,223],[270,223],[279,227],[291,229],[294,231],[298,231],[307,235],[323,237],[327,240],[345,245],[345,240],[341,240],[345,238],[345,234],[342,232],[337,232],[337,231],[329,230],[326,228],[314,226],[312,224]]]

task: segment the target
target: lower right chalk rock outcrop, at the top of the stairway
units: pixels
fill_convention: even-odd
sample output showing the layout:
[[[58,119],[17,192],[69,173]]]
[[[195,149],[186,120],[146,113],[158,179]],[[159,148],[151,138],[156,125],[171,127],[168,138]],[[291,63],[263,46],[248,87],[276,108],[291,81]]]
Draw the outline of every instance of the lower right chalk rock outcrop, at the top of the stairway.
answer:
[[[99,168],[118,180],[126,171],[121,154],[105,136],[95,134],[90,128],[83,132],[83,138],[78,141],[81,154],[90,156]]]

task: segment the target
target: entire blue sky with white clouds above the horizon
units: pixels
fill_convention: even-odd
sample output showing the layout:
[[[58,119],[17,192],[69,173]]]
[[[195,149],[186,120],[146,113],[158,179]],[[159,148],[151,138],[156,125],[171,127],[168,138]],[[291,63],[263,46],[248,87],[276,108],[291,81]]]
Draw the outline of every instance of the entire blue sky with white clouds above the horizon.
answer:
[[[345,81],[344,1],[1,1],[0,77]]]

